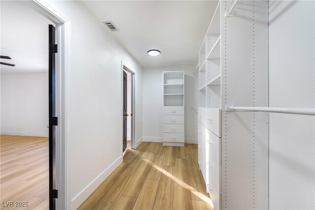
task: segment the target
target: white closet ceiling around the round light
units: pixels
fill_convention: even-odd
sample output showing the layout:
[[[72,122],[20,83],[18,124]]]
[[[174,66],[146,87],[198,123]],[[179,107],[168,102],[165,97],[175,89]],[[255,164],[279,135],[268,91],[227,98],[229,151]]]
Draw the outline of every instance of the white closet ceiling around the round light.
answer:
[[[143,67],[196,64],[217,0],[83,1]],[[104,26],[106,27],[106,26]],[[109,30],[109,29],[108,29]],[[161,54],[152,57],[150,49]]]

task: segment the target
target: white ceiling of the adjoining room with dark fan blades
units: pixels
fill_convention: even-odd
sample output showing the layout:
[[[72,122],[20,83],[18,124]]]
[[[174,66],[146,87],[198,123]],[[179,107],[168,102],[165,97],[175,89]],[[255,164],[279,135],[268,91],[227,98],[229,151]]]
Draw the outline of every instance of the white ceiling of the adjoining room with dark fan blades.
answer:
[[[0,1],[0,55],[12,60],[1,62],[1,73],[48,71],[48,25],[53,24],[25,1]],[[54,25],[54,24],[53,24]]]

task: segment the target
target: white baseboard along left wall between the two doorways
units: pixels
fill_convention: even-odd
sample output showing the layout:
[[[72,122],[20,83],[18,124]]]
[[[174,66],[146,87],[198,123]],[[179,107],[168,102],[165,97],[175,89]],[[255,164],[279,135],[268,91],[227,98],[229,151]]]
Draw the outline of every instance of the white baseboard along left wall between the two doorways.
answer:
[[[119,157],[100,175],[98,175],[88,186],[71,200],[71,209],[78,207],[95,191],[95,189],[123,162],[123,157]]]

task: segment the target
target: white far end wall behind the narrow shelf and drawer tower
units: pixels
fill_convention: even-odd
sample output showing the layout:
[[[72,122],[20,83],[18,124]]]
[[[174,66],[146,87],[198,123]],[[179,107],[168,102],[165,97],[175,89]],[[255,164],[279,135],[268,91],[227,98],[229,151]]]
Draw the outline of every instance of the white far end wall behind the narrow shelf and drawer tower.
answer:
[[[198,78],[194,66],[145,68],[143,71],[143,140],[163,141],[163,71],[185,71],[185,142],[197,143]]]

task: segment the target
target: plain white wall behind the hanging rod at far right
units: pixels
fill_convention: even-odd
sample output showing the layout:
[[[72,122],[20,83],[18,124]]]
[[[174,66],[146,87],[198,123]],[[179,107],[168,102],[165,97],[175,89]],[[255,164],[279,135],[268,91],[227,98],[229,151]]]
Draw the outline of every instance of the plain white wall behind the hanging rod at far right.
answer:
[[[269,2],[269,105],[315,107],[315,2]],[[315,117],[270,113],[269,207],[315,209]]]

